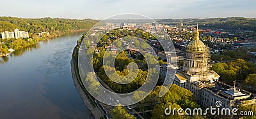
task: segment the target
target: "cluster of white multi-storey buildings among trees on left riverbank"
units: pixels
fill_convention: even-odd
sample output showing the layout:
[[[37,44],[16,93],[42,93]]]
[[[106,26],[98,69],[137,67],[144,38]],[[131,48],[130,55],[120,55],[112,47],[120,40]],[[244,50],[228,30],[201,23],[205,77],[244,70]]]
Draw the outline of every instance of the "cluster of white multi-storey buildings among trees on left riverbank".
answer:
[[[2,39],[11,39],[11,38],[29,38],[28,31],[19,31],[19,29],[14,29],[14,31],[4,31],[1,32]]]

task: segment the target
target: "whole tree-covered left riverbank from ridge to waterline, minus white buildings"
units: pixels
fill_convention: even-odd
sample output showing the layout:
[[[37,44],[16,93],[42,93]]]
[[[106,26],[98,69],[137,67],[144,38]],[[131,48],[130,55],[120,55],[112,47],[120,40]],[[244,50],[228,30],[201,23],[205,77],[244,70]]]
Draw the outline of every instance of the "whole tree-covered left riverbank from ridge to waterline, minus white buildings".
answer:
[[[0,32],[28,31],[29,38],[0,38],[0,57],[8,52],[8,48],[19,50],[30,45],[35,45],[38,41],[52,36],[60,36],[64,32],[72,32],[81,29],[90,29],[97,23],[97,20],[65,19],[65,18],[16,18],[0,17]],[[49,36],[39,36],[37,33],[49,32]]]

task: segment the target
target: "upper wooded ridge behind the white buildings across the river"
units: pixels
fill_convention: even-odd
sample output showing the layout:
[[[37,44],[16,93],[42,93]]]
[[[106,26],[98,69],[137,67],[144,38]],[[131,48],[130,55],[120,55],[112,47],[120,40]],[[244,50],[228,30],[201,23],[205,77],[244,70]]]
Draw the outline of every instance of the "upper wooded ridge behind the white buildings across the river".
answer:
[[[16,28],[20,31],[28,31],[30,33],[41,31],[71,31],[88,29],[96,23],[97,20],[92,19],[0,17],[0,32],[13,31]]]

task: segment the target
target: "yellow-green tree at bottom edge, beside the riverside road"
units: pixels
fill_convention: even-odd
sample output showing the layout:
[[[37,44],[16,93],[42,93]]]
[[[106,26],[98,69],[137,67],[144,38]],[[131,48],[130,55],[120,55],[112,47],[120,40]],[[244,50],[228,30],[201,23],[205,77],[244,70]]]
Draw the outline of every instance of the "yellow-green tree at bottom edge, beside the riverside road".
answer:
[[[130,115],[129,113],[127,113],[127,111],[120,105],[111,109],[110,113],[113,119],[119,119],[119,118],[136,119],[133,115]]]

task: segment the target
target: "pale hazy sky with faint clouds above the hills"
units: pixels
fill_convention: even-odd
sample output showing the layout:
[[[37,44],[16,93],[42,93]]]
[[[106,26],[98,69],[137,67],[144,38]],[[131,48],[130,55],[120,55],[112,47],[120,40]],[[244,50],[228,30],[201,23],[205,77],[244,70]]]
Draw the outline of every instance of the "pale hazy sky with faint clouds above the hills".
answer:
[[[256,18],[256,0],[1,0],[0,16],[104,19],[121,13],[150,18]]]

